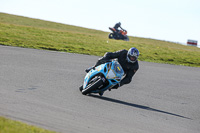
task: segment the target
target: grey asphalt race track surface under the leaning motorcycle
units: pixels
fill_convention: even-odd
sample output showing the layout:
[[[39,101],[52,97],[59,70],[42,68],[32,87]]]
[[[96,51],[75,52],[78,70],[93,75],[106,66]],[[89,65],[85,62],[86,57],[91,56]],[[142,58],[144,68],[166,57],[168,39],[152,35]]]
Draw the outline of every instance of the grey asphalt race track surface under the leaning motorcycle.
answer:
[[[84,96],[98,58],[0,46],[0,116],[61,133],[200,132],[200,68],[140,61],[130,84]]]

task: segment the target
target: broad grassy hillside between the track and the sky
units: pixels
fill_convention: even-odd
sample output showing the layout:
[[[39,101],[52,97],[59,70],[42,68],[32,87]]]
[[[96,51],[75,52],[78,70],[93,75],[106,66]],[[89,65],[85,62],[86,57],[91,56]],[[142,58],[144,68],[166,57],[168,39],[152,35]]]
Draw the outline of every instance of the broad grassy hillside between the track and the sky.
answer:
[[[108,32],[0,13],[0,44],[102,56],[136,47],[139,60],[200,67],[200,49],[172,42],[130,37],[108,39]]]

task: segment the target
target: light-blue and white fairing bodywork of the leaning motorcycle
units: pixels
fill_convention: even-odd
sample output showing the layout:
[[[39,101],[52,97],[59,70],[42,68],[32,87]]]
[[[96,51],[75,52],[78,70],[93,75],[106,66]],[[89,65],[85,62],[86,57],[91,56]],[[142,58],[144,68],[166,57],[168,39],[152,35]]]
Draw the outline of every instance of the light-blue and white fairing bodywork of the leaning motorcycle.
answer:
[[[107,89],[112,88],[116,84],[119,84],[124,75],[124,70],[116,60],[113,60],[105,64],[101,64],[97,66],[95,69],[91,69],[87,73],[83,83],[83,90],[89,85],[90,81],[94,79],[94,77],[99,75],[101,76],[102,80],[106,85],[105,84],[102,85],[103,86],[102,88],[97,88],[96,90],[93,90],[91,93],[104,92]]]

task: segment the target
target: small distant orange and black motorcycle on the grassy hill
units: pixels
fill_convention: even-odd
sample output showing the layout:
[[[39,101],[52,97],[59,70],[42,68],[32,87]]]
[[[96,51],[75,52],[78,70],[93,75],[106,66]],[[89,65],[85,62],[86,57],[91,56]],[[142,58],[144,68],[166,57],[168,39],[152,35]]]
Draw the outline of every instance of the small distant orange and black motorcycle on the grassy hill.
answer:
[[[119,32],[117,32],[115,28],[109,27],[109,29],[112,31],[112,33],[108,35],[109,39],[119,39],[119,40],[129,41],[129,37],[127,36],[126,30],[120,30]]]

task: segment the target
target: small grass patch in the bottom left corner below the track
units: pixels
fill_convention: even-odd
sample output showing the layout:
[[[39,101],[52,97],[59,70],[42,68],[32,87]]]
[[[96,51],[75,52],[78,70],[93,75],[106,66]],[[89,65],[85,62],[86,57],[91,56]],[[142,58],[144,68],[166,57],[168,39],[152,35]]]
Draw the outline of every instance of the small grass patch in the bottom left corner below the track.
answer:
[[[0,117],[0,133],[56,133],[35,126],[30,126],[19,121]]]

